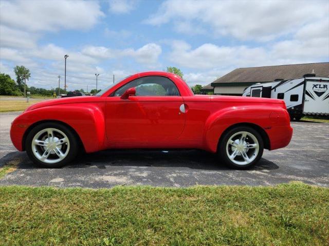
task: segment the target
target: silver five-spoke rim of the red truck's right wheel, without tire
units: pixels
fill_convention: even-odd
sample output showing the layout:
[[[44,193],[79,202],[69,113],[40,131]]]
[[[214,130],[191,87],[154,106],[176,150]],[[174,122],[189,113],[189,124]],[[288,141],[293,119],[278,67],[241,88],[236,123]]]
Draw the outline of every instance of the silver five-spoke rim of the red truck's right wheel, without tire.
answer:
[[[259,153],[257,138],[248,131],[239,131],[233,134],[226,144],[226,154],[236,165],[251,163]]]

